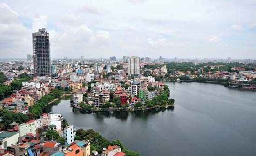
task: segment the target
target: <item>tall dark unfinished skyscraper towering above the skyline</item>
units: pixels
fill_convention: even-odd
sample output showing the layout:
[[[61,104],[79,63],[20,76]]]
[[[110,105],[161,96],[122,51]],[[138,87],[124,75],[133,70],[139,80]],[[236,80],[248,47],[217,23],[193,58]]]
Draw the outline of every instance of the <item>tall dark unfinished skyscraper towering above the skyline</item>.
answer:
[[[32,34],[34,74],[37,76],[51,75],[51,56],[49,33],[45,28]]]

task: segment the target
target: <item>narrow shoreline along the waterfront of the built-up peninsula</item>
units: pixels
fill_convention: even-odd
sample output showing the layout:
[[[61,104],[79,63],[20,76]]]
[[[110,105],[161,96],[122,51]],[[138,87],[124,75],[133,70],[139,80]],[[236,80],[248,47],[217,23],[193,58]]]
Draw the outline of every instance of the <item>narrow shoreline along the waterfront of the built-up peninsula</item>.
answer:
[[[88,111],[85,110],[83,108],[81,108],[80,106],[75,106],[74,104],[71,104],[74,108],[79,109],[79,110],[83,110],[83,111]],[[106,112],[106,111],[128,111],[128,112],[135,112],[135,111],[145,111],[145,110],[150,110],[150,109],[156,109],[156,108],[162,108],[162,107],[174,107],[175,104],[170,104],[170,105],[157,105],[154,107],[150,107],[150,108],[133,108],[133,109],[121,109],[121,108],[109,108],[109,109],[105,109],[105,110],[91,110],[88,112]]]

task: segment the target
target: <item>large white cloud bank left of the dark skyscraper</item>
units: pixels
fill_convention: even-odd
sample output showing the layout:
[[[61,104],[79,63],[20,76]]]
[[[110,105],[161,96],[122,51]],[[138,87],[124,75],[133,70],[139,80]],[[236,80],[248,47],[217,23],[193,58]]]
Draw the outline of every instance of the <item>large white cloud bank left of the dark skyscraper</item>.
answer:
[[[19,21],[19,14],[7,4],[0,4],[0,54],[2,57],[20,57],[32,53],[31,30]],[[31,50],[31,51],[27,51]]]

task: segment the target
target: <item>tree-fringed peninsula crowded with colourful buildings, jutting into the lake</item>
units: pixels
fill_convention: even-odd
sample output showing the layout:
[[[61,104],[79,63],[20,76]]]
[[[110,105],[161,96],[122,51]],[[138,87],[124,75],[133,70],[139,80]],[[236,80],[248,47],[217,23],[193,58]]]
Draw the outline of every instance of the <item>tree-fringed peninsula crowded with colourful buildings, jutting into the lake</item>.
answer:
[[[143,78],[142,78],[143,79]],[[142,111],[159,107],[174,107],[174,99],[169,99],[170,90],[163,82],[139,83],[136,81],[122,83],[117,90],[94,92],[108,83],[88,83],[90,92],[74,91],[71,104],[74,108],[88,112],[99,111]],[[141,87],[143,86],[143,87]],[[127,88],[127,89],[125,89]],[[82,96],[82,101],[81,99]]]

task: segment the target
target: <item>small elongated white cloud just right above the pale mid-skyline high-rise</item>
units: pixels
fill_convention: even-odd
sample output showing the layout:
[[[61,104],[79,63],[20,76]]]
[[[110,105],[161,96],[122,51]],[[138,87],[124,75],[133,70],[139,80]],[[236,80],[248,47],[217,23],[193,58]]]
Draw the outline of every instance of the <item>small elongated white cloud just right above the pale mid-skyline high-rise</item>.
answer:
[[[181,47],[184,46],[184,43],[179,42],[170,42],[166,38],[159,38],[157,40],[153,40],[151,38],[147,39],[148,44],[152,47]]]

